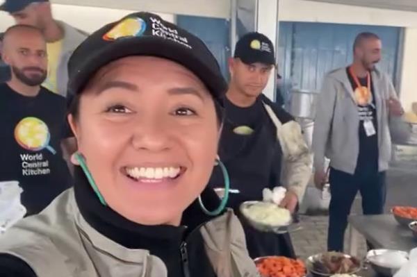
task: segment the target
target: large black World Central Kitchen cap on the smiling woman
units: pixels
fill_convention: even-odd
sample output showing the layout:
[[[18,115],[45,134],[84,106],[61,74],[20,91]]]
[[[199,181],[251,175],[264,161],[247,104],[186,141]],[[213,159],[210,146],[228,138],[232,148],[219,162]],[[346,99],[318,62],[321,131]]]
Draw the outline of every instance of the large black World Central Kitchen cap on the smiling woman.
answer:
[[[214,99],[222,99],[227,91],[220,66],[202,40],[158,15],[135,12],[95,31],[72,53],[68,104],[71,106],[72,98],[101,67],[127,56],[156,56],[177,62],[198,76]]]

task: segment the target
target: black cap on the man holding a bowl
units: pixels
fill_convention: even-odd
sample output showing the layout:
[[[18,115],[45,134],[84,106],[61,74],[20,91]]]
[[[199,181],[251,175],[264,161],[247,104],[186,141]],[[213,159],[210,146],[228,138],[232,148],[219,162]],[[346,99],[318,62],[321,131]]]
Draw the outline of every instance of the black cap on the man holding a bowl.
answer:
[[[274,44],[261,33],[247,33],[236,43],[234,58],[240,58],[247,65],[255,62],[275,65]]]

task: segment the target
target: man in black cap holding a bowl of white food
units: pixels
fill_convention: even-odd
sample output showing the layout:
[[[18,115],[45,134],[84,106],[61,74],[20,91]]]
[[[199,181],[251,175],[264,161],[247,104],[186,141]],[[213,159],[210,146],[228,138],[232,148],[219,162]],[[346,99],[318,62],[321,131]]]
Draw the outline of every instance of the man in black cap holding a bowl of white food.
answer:
[[[262,94],[275,67],[274,53],[268,37],[248,33],[240,38],[229,61],[231,81],[219,152],[229,170],[231,188],[237,192],[229,201],[237,212],[243,201],[262,200],[264,188],[280,185],[287,188],[281,207],[295,212],[311,174],[311,157],[299,124]],[[211,185],[220,187],[220,176],[216,171]],[[294,256],[288,236],[259,233],[250,226],[245,233],[252,258]]]

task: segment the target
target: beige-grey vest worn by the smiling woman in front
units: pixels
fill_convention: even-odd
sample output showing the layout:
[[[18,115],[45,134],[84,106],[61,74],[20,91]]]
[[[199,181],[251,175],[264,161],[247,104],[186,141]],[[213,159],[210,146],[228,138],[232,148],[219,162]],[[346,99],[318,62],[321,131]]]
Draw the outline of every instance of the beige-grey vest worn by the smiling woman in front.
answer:
[[[200,229],[220,277],[259,276],[231,210]],[[164,277],[163,261],[145,249],[126,249],[81,216],[74,190],[63,192],[39,215],[19,221],[0,237],[0,253],[24,260],[39,277]]]

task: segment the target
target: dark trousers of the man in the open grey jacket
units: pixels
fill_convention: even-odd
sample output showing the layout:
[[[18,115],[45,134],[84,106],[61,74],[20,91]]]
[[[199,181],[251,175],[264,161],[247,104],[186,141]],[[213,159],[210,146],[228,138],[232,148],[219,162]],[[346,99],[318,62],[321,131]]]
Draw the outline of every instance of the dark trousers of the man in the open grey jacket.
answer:
[[[357,192],[362,196],[364,215],[379,215],[384,212],[386,201],[386,173],[361,170],[354,175],[330,169],[329,233],[327,249],[343,252],[347,217]]]

